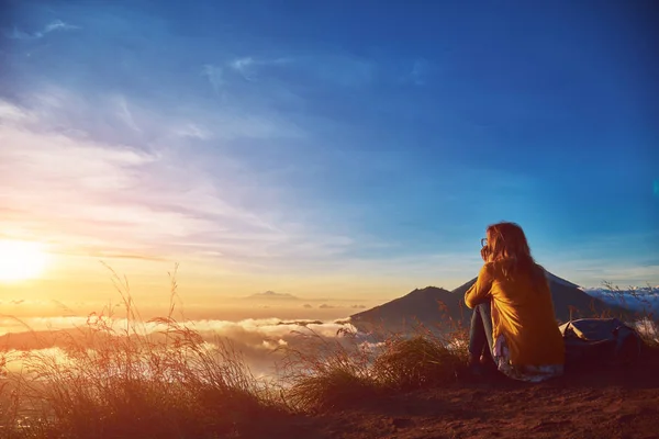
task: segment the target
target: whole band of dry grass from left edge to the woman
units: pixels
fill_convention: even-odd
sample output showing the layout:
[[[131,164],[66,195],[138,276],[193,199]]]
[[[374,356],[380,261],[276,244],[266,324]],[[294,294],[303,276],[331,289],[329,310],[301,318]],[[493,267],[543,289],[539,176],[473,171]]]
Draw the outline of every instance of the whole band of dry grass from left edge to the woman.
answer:
[[[440,330],[417,325],[412,336],[350,329],[323,336],[304,328],[297,348],[279,348],[281,381],[264,382],[228,340],[208,342],[175,318],[175,279],[176,272],[165,317],[143,320],[127,281],[112,272],[121,316],[110,306],[91,314],[77,333],[62,333],[59,351],[0,354],[0,437],[252,437],[287,413],[343,409],[447,385],[466,363],[467,331],[450,322]],[[646,344],[659,348],[654,315],[638,318]],[[11,362],[22,372],[8,373]]]

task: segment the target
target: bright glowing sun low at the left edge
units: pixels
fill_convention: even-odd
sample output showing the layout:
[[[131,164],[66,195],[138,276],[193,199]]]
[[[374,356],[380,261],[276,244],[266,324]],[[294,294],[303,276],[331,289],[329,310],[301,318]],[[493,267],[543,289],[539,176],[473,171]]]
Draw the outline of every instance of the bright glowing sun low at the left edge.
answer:
[[[38,243],[0,239],[0,282],[38,278],[46,260],[47,254]]]

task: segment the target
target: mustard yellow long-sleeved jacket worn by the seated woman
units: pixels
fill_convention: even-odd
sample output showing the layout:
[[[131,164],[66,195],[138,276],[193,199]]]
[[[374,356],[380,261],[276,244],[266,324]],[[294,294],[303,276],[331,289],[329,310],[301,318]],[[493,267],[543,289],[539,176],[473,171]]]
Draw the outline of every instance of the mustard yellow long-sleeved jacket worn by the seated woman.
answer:
[[[554,314],[549,283],[535,286],[530,275],[505,279],[501,262],[485,263],[465,303],[492,301],[492,339],[505,337],[514,365],[565,363],[565,345]]]

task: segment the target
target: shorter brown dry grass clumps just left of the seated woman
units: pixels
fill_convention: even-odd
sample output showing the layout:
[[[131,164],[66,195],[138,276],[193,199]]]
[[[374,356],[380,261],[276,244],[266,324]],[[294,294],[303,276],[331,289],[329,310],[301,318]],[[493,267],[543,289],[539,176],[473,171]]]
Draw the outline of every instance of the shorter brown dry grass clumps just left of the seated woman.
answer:
[[[346,329],[333,338],[312,330],[298,335],[306,341],[303,348],[280,348],[286,352],[282,395],[295,410],[344,409],[382,395],[446,385],[466,363],[465,331],[439,337],[420,326],[412,337],[365,339]]]

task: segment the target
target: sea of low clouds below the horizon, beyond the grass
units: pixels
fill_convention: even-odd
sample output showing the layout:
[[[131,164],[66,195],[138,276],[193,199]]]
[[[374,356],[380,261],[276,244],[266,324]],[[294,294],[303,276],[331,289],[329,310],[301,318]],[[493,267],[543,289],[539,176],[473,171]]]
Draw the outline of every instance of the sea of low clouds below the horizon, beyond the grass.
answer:
[[[641,288],[626,291],[583,289],[583,291],[606,303],[637,312],[639,317],[636,323],[637,329],[657,336],[657,326],[654,322],[659,315],[657,314],[659,289]],[[20,320],[1,317],[0,330],[4,335],[0,337],[0,349],[10,353],[40,350],[63,356],[66,344],[70,342],[71,338],[56,337],[56,335],[64,330],[75,338],[76,334],[82,334],[85,328],[93,323],[93,318],[97,317],[92,317],[92,320],[86,316],[26,317]],[[122,334],[122,328],[127,325],[125,318],[114,318],[108,323],[118,329],[118,334]],[[356,344],[377,345],[377,340],[371,335],[359,333],[350,324],[349,318],[325,320],[247,318],[235,322],[203,318],[186,320],[185,325],[197,331],[209,344],[228,341],[236,351],[241,352],[253,373],[259,376],[276,375],[284,352],[288,349],[306,349],[310,338],[324,339],[353,348]],[[138,325],[138,334],[143,335],[154,335],[163,329],[163,325],[156,322]]]

